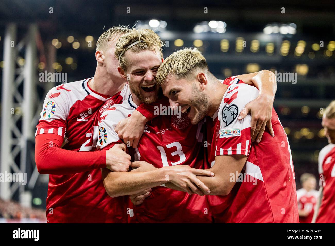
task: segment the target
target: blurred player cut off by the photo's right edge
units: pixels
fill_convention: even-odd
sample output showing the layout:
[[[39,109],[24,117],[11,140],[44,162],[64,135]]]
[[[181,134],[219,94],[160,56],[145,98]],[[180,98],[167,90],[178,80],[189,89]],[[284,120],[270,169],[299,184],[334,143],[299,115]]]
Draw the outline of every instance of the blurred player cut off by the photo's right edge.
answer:
[[[322,126],[329,144],[319,153],[321,187],[316,223],[335,223],[335,100],[325,109]]]

